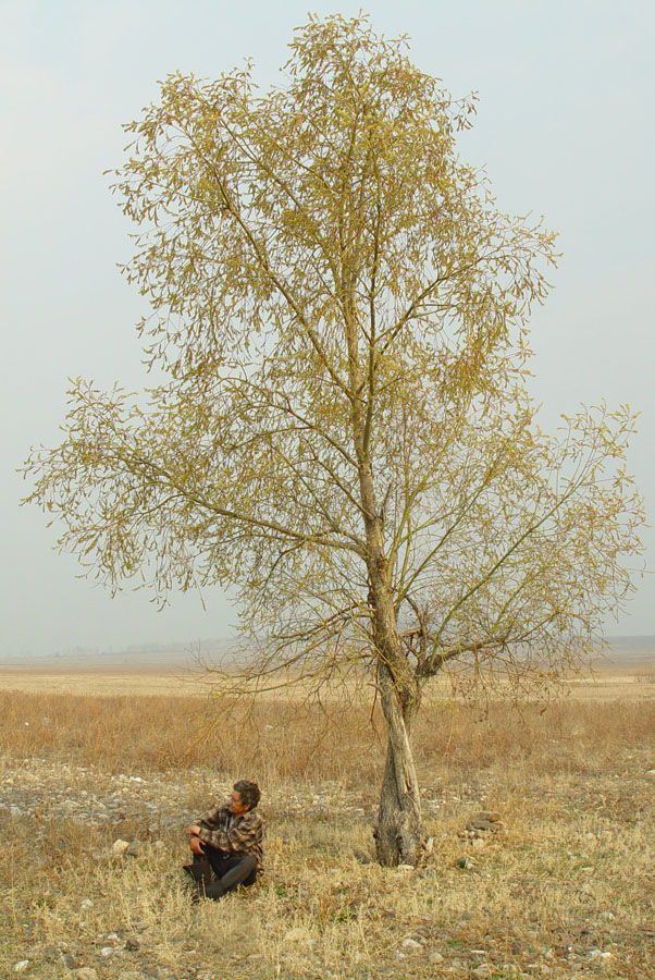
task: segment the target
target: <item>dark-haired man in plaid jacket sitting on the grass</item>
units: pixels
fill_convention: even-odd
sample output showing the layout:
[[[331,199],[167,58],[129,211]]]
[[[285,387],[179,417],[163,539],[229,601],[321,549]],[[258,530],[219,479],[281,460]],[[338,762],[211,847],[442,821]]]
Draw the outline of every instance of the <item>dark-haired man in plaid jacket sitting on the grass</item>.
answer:
[[[239,780],[226,804],[208,810],[187,828],[194,862],[184,870],[197,882],[200,895],[222,898],[238,884],[255,884],[263,869],[263,823],[255,810],[260,796],[257,783]]]

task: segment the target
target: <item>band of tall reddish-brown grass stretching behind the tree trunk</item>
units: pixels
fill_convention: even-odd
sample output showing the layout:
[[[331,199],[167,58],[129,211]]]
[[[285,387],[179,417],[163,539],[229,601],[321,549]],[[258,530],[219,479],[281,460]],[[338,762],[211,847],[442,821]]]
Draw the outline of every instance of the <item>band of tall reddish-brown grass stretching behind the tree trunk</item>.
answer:
[[[483,771],[498,762],[534,772],[597,771],[617,750],[647,745],[655,699],[565,700],[511,710],[427,703],[416,727],[419,768]],[[0,691],[0,752],[90,762],[110,771],[207,765],[267,783],[375,781],[384,754],[378,711],[341,702],[231,703],[211,696],[92,696]]]

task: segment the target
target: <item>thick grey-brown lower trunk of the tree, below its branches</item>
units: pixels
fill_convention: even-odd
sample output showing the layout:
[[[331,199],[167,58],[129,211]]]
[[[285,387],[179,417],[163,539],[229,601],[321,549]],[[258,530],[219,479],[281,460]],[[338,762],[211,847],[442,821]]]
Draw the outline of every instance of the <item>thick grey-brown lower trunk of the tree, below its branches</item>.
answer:
[[[386,764],[375,828],[381,865],[416,865],[424,847],[421,798],[410,744],[411,723],[419,707],[416,696],[401,703],[388,667],[381,664],[382,709],[388,725]]]

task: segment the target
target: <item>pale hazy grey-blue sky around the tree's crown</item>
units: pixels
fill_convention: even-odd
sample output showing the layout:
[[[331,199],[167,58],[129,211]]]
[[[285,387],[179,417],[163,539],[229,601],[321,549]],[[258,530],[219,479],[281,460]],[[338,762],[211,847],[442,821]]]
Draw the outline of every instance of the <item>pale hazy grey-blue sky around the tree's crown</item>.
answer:
[[[355,14],[355,3],[320,3]],[[499,206],[560,232],[555,289],[533,320],[533,391],[543,419],[580,402],[641,409],[631,467],[655,510],[655,117],[652,0],[370,0],[379,33],[407,33],[411,57],[455,95],[480,94],[461,154],[486,163]],[[18,509],[15,467],[58,439],[66,378],[141,381],[133,324],[141,301],[115,264],[127,232],[102,171],[122,160],[121,123],[177,69],[201,76],[251,57],[277,81],[305,2],[0,0],[4,561],[0,654],[114,649],[228,634],[220,595],[111,599],[51,551],[54,532]],[[655,536],[646,534],[653,566]],[[609,633],[655,634],[655,580]]]

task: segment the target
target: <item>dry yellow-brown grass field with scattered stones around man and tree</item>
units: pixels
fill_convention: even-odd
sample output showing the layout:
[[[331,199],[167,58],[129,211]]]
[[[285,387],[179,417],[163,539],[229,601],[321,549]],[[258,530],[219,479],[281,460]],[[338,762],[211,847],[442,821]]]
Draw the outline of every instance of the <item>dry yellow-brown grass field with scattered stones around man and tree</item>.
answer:
[[[392,870],[366,705],[246,713],[175,672],[1,669],[0,978],[652,980],[655,672],[569,688],[543,713],[435,693],[434,850]],[[264,791],[265,874],[193,905],[182,829],[237,776]],[[470,836],[481,811],[498,830]]]

